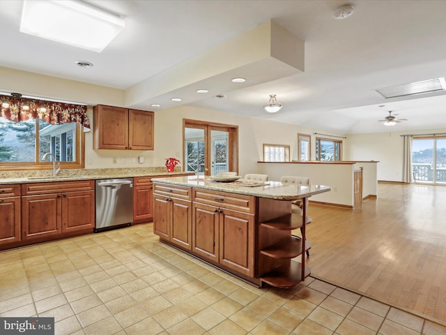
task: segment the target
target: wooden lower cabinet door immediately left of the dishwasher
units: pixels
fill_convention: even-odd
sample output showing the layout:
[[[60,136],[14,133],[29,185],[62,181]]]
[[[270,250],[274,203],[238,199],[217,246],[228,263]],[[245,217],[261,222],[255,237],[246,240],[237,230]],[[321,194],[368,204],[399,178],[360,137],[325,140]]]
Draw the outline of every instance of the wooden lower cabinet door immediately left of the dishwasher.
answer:
[[[95,192],[62,193],[62,232],[95,227]]]

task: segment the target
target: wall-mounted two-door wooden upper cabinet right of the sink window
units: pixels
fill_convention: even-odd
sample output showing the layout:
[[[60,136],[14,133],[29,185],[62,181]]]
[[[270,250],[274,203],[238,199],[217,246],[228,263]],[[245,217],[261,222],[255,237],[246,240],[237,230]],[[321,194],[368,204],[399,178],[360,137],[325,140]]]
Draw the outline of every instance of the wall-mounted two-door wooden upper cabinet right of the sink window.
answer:
[[[93,107],[93,149],[153,150],[153,112]]]

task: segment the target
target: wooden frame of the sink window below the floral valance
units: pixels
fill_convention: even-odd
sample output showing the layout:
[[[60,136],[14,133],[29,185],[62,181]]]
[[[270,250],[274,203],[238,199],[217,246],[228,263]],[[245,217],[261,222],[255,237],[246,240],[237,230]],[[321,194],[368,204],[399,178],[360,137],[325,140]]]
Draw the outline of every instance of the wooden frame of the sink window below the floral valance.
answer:
[[[35,120],[35,129],[36,129],[36,153],[39,152],[39,127],[38,121]],[[12,121],[15,122],[15,121]],[[75,123],[75,161],[70,162],[60,162],[62,169],[82,169],[85,168],[85,134],[83,131],[83,127],[79,122]],[[0,171],[20,171],[20,170],[52,170],[52,162],[50,161],[40,161],[39,156],[36,156],[36,162],[8,162],[3,163],[0,162]],[[59,161],[57,161],[59,163]]]

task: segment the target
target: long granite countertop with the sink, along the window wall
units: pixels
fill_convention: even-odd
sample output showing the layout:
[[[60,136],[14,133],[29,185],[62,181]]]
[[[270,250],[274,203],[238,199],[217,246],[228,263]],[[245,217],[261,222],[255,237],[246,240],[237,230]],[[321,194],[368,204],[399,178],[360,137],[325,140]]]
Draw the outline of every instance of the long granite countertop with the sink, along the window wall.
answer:
[[[168,177],[172,174],[190,174],[190,172],[167,172],[166,168],[67,169],[61,170],[56,177],[52,177],[52,171],[49,170],[8,171],[0,172],[0,185],[130,177]]]

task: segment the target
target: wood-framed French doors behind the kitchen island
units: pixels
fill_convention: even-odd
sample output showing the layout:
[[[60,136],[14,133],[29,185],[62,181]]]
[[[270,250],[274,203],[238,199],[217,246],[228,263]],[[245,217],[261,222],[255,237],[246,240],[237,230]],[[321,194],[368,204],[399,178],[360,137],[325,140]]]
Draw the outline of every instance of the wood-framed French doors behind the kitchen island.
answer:
[[[183,120],[185,172],[215,175],[237,171],[238,127]]]

